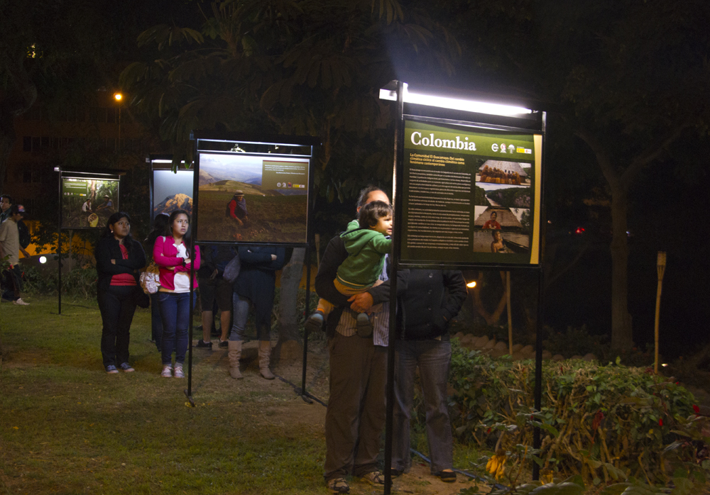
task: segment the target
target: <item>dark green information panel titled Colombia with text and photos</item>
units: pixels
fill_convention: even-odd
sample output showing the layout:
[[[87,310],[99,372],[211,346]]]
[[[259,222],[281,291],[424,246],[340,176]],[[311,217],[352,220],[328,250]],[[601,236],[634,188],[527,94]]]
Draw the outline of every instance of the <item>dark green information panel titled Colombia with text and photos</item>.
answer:
[[[405,118],[403,264],[537,265],[542,134]]]

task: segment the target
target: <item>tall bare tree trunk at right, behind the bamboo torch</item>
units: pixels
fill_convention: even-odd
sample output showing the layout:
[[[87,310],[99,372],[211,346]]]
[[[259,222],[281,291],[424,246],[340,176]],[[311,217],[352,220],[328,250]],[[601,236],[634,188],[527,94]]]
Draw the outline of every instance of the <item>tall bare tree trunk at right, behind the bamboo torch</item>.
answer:
[[[621,187],[611,189],[611,348],[633,347],[631,315],[628,313],[628,199]]]

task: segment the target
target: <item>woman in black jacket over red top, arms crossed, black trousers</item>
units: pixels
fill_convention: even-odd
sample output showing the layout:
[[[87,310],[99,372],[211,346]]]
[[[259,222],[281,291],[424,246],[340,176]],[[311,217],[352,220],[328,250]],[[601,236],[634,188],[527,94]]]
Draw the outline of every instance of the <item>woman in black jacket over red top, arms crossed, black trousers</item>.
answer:
[[[117,212],[109,216],[106,228],[94,248],[99,274],[99,310],[103,323],[101,354],[107,373],[132,372],[129,365],[129,330],[136,311],[138,271],[146,266],[141,243],[131,238],[131,217]]]

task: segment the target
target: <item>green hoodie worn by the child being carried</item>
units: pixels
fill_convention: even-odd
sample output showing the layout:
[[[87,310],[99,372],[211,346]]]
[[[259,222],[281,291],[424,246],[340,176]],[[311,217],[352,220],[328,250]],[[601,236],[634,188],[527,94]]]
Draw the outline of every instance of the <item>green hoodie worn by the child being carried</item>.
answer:
[[[348,257],[338,267],[339,282],[352,289],[371,287],[382,273],[392,240],[371,228],[361,228],[356,220],[348,224],[340,237],[345,242]]]

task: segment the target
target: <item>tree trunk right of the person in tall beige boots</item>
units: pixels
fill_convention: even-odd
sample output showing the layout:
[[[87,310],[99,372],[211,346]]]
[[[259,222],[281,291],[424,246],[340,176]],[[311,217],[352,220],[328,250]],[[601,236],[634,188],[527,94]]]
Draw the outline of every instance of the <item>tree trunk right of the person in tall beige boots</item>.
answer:
[[[301,335],[298,332],[297,296],[303,274],[305,247],[294,247],[291,259],[281,272],[281,291],[279,299],[278,343],[273,350],[273,361],[294,361],[300,359],[302,350]]]

